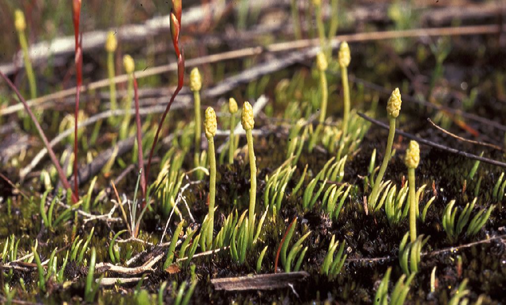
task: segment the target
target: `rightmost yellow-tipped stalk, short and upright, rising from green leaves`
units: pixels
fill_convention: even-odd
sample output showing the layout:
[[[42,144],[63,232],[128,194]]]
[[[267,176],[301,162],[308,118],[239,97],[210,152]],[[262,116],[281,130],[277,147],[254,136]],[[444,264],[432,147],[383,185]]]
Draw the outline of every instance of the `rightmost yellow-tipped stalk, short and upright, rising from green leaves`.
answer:
[[[416,201],[415,195],[415,179],[414,170],[420,163],[420,146],[418,142],[411,140],[409,146],[406,149],[406,156],[404,157],[404,164],[408,168],[408,185],[409,185],[409,234],[411,236],[411,242],[416,239],[416,210],[418,202]]]

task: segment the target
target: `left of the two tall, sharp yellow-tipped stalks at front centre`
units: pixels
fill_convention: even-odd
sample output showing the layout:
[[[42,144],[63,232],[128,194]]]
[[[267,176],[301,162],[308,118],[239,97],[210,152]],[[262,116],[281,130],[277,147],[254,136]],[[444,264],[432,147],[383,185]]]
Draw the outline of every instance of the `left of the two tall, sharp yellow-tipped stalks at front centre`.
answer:
[[[217,122],[215,110],[208,107],[205,110],[205,137],[208,143],[208,156],[209,156],[209,228],[207,231],[206,243],[207,248],[210,248],[213,242],[213,231],[215,221],[215,200],[216,200],[216,157],[215,157],[215,140]],[[251,222],[250,222],[251,223]]]

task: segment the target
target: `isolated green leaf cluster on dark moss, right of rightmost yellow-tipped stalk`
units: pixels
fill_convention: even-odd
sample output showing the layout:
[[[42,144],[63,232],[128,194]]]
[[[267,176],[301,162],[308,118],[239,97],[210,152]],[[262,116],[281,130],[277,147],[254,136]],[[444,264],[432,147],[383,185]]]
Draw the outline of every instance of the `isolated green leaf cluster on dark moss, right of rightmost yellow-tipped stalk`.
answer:
[[[460,233],[464,231],[464,227],[468,225],[468,223],[469,225],[466,230],[466,234],[468,236],[476,235],[485,225],[495,206],[492,205],[488,209],[481,209],[471,219],[471,213],[477,200],[478,198],[474,198],[471,204],[468,202],[468,204],[460,212],[458,218],[456,218],[458,208],[454,207],[455,200],[451,200],[448,205],[446,205],[443,211],[442,222],[449,242],[455,243],[458,240]]]

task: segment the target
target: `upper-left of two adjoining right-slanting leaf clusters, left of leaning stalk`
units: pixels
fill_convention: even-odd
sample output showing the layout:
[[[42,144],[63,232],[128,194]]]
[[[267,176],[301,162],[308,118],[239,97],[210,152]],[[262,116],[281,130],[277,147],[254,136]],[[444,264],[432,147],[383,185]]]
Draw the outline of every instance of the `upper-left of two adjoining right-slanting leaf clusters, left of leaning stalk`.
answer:
[[[325,186],[327,185],[327,181],[332,182],[341,182],[343,181],[345,172],[345,164],[346,164],[347,156],[343,157],[339,161],[335,161],[335,157],[332,157],[323,168],[316,174],[316,176],[309,182],[307,187],[304,189],[304,195],[302,198],[302,207],[305,211],[312,210],[314,205],[316,204],[316,200],[323,192]],[[323,183],[321,183],[323,180]],[[315,192],[315,188],[317,184],[320,183],[320,186]]]

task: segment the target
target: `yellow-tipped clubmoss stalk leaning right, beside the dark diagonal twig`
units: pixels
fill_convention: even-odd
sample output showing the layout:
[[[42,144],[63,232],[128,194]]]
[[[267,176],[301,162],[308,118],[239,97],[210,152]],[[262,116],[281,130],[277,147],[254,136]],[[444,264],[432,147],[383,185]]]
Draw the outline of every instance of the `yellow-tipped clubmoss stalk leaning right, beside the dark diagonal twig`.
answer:
[[[387,103],[387,113],[388,113],[388,119],[390,123],[390,129],[388,132],[388,139],[387,139],[387,147],[385,148],[385,156],[383,157],[383,163],[381,167],[379,168],[378,175],[376,176],[376,180],[374,181],[374,185],[372,187],[372,191],[369,195],[367,205],[369,206],[369,210],[372,211],[371,207],[376,206],[376,200],[377,195],[379,192],[379,186],[381,185],[381,182],[383,181],[383,176],[385,175],[385,172],[387,171],[387,166],[390,161],[390,158],[392,157],[392,145],[394,143],[394,137],[395,137],[395,121],[396,118],[399,116],[399,111],[401,110],[401,93],[399,92],[399,88],[396,88],[392,95],[390,95],[390,98],[388,99]]]

